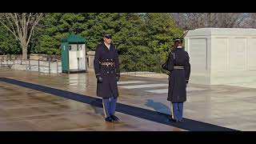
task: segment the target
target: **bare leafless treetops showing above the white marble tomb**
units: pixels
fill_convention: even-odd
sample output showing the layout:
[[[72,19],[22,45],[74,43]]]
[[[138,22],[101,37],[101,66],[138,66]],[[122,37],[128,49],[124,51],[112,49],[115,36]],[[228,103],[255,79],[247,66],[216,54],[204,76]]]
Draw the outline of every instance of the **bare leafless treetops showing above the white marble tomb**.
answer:
[[[246,27],[246,13],[171,13],[171,16],[185,30],[203,27],[234,28]]]

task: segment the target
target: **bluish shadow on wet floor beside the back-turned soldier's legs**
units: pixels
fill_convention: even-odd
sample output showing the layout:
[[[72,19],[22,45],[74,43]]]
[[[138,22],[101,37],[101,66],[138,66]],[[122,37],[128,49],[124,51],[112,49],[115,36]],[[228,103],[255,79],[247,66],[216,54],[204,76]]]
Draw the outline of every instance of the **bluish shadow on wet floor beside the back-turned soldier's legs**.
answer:
[[[152,99],[147,99],[145,106],[152,107],[159,113],[170,114],[170,107],[164,105],[162,102],[154,102]]]

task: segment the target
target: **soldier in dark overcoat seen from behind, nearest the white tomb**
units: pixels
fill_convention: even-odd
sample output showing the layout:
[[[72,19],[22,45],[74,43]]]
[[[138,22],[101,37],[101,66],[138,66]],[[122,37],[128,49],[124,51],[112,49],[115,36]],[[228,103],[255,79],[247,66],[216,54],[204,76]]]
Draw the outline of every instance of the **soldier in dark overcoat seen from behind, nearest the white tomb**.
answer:
[[[186,85],[190,78],[190,57],[182,48],[182,39],[174,38],[174,49],[170,51],[163,69],[170,71],[167,101],[170,101],[173,122],[182,122],[183,102],[186,102]]]

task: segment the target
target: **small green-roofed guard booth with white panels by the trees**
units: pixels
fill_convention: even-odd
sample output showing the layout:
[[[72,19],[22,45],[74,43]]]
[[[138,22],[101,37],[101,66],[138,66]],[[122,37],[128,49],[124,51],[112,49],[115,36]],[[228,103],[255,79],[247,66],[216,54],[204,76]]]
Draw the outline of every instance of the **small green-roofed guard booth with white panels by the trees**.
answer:
[[[74,33],[61,39],[62,73],[86,72],[86,39]]]

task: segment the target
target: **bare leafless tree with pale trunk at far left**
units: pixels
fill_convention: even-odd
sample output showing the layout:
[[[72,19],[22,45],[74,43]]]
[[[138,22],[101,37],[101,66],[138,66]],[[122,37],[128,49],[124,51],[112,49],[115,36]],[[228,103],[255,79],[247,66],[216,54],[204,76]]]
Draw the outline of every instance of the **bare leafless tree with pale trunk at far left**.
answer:
[[[0,15],[0,22],[14,34],[22,47],[22,59],[27,59],[27,47],[34,29],[42,18],[42,13],[5,13]]]

